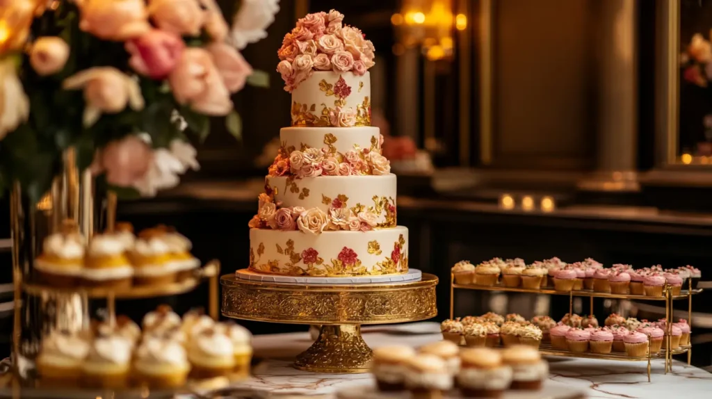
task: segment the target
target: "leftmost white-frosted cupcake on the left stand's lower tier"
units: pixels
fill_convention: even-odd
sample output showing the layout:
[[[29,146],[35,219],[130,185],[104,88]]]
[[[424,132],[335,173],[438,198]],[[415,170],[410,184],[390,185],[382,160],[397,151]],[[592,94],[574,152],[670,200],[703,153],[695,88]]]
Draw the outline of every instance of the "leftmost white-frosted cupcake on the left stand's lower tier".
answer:
[[[89,344],[78,334],[54,331],[42,339],[37,372],[46,385],[75,386],[82,376],[82,363]]]

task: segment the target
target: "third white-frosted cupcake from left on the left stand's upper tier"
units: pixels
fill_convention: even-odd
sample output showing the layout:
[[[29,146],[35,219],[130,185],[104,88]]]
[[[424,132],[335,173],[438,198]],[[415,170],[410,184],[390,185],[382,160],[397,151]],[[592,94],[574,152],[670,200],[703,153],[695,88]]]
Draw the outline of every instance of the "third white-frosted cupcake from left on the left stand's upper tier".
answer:
[[[168,284],[175,282],[177,269],[172,262],[171,248],[165,233],[158,229],[143,230],[131,252],[136,284]]]

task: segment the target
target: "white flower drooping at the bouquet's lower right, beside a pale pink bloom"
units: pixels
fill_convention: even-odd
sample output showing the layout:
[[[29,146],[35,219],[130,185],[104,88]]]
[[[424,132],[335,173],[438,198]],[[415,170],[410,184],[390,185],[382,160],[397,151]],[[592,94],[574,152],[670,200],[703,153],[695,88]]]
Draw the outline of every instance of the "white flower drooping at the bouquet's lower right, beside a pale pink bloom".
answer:
[[[198,170],[197,151],[182,140],[173,140],[169,148],[153,151],[153,161],[145,176],[134,184],[142,196],[155,196],[158,190],[177,186],[179,174],[188,169]]]

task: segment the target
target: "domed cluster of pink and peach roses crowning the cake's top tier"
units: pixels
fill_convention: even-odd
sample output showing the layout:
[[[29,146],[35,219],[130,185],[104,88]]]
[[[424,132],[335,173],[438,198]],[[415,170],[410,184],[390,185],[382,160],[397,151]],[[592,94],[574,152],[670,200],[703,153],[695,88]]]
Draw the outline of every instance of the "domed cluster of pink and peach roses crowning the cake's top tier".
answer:
[[[343,25],[343,20],[344,14],[336,10],[308,14],[284,36],[277,51],[281,60],[277,71],[284,80],[284,90],[292,92],[314,70],[360,76],[374,65],[373,43],[358,28]]]

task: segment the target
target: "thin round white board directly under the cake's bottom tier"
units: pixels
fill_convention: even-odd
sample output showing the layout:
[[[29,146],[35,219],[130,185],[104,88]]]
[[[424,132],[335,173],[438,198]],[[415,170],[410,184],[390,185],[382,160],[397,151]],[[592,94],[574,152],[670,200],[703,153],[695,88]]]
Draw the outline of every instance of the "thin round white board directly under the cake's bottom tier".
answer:
[[[354,277],[302,277],[263,275],[261,273],[256,273],[247,269],[241,269],[235,272],[235,276],[239,279],[281,284],[399,284],[402,282],[418,281],[421,279],[422,275],[422,272],[417,269],[409,269],[408,272],[404,275]]]

